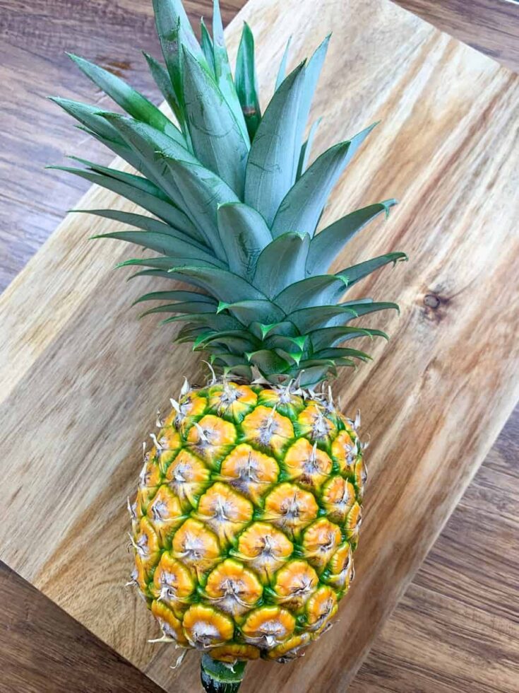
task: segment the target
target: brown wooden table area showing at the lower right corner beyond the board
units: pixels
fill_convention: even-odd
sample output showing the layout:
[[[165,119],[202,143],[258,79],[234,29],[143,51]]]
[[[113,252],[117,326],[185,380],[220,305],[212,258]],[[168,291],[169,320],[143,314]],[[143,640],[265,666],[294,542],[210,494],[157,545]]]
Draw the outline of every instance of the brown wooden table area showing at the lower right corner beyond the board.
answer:
[[[350,693],[513,693],[519,675],[519,407]]]

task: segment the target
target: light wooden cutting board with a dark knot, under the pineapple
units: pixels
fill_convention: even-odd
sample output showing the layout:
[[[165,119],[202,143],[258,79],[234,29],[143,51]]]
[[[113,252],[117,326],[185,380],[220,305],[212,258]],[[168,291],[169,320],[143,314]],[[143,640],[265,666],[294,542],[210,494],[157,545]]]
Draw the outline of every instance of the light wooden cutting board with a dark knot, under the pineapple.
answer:
[[[295,64],[333,30],[315,151],[382,123],[326,219],[401,200],[338,267],[410,255],[363,282],[364,295],[398,300],[402,314],[364,320],[393,339],[371,345],[374,363],[334,388],[347,412],[362,409],[372,441],[357,580],[338,623],[303,659],[251,665],[244,685],[304,693],[325,678],[339,691],[519,395],[519,77],[387,0],[251,0],[227,29],[233,55],[244,20],[267,89],[290,33]],[[100,189],[78,204],[107,206],[132,209]],[[125,284],[111,267],[128,250],[87,240],[110,228],[69,216],[0,298],[0,558],[160,685],[194,692],[198,656],[173,671],[178,653],[147,642],[157,629],[124,587],[124,537],[155,410],[184,374],[201,382],[203,369],[189,347],[171,346],[173,330],[136,320],[129,305],[152,283]]]

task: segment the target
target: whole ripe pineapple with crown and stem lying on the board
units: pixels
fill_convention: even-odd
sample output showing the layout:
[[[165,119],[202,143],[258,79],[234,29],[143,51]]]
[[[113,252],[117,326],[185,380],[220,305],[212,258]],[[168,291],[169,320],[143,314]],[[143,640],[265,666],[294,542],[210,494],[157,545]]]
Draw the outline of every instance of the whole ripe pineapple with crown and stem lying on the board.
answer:
[[[162,640],[203,653],[206,690],[234,691],[247,660],[285,662],[330,627],[354,576],[366,467],[359,417],[328,381],[369,358],[345,342],[386,337],[350,323],[397,308],[347,290],[390,252],[328,273],[337,253],[390,199],[316,233],[333,185],[374,126],[309,164],[304,139],[328,46],[285,76],[263,114],[253,35],[234,77],[217,1],[201,44],[179,0],[154,0],[165,65],[146,55],[174,118],[119,77],[76,56],[127,115],[56,99],[135,173],[80,160],[64,168],[143,208],[93,210],[133,230],[104,236],[154,251],[122,262],[162,286],[138,303],[184,322],[178,342],[205,351],[208,385],[184,383],[157,421],[129,502],[136,583]],[[169,287],[164,281],[173,281]],[[179,288],[179,282],[185,286]]]

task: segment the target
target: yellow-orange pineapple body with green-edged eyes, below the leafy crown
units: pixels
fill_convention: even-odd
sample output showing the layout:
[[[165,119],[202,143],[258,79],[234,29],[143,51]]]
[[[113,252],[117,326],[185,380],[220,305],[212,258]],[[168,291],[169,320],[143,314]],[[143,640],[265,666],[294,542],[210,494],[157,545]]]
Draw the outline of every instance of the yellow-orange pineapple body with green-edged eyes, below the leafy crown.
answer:
[[[129,503],[141,590],[166,639],[232,663],[285,661],[354,576],[366,467],[330,400],[220,382],[184,393]]]

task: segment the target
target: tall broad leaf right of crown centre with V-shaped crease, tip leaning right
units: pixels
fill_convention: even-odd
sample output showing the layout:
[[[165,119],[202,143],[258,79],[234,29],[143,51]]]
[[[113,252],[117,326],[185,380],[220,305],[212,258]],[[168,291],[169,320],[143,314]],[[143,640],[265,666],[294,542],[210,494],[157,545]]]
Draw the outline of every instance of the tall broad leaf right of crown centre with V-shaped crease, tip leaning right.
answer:
[[[300,64],[270,100],[249,152],[245,202],[258,210],[268,226],[297,173],[301,146],[297,139],[297,112],[303,84],[304,64]],[[285,231],[294,229],[299,231],[297,226]]]

